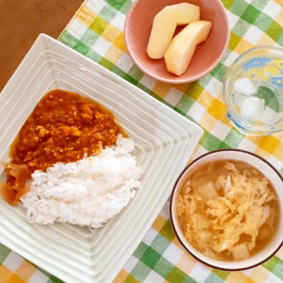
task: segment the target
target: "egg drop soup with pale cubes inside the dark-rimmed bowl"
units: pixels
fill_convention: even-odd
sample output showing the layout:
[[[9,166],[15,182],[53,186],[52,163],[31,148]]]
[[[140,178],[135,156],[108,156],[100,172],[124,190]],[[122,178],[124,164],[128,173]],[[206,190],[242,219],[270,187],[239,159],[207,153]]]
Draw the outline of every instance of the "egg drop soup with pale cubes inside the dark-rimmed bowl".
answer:
[[[218,160],[199,167],[182,186],[177,215],[187,241],[224,261],[260,252],[279,227],[278,196],[269,180],[244,162]]]

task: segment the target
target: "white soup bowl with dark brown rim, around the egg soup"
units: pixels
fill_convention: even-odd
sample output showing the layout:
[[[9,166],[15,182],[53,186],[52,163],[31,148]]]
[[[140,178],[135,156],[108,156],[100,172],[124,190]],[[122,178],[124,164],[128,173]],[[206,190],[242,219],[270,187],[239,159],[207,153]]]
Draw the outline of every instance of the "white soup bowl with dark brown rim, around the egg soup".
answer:
[[[272,256],[274,256],[277,251],[283,245],[283,221],[282,216],[280,217],[279,227],[277,232],[275,233],[273,239],[257,254],[251,256],[249,259],[242,261],[221,261],[211,259],[208,256],[205,256],[200,251],[195,249],[189,241],[185,238],[178,221],[177,217],[177,197],[180,192],[180,189],[186,182],[187,178],[197,170],[200,166],[217,161],[217,160],[234,160],[245,162],[249,165],[252,165],[257,170],[259,170],[263,175],[265,175],[272,186],[274,187],[278,199],[279,199],[279,207],[280,212],[279,215],[282,215],[282,203],[283,203],[283,178],[280,173],[265,159],[259,157],[256,154],[251,152],[246,152],[239,149],[220,149],[212,152],[208,152],[197,159],[195,159],[192,163],[190,163],[180,174],[175,185],[173,187],[173,191],[170,197],[170,221],[175,233],[175,236],[181,243],[181,245],[185,248],[185,250],[191,254],[195,259],[200,261],[201,263],[221,270],[227,271],[239,271],[250,269],[255,266],[258,266]]]

